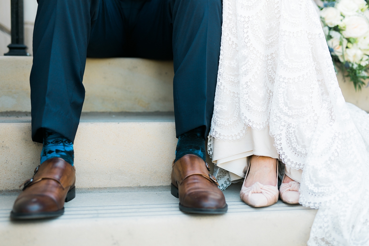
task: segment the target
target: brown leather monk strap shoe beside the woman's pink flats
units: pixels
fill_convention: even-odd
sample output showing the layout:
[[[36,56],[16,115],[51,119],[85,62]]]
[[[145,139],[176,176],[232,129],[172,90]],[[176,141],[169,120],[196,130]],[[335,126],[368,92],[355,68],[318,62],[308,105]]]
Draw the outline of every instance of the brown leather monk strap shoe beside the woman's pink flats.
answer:
[[[171,193],[179,198],[179,209],[194,214],[227,212],[217,179],[206,162],[196,155],[185,155],[172,165]]]

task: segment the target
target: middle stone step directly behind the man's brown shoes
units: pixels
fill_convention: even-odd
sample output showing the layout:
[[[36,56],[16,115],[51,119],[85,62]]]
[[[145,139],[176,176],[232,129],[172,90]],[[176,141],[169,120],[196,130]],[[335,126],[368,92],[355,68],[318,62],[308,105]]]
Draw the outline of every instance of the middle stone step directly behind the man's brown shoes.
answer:
[[[19,190],[39,164],[31,117],[0,114],[0,190]],[[74,143],[78,188],[166,186],[175,157],[173,113],[82,113]]]

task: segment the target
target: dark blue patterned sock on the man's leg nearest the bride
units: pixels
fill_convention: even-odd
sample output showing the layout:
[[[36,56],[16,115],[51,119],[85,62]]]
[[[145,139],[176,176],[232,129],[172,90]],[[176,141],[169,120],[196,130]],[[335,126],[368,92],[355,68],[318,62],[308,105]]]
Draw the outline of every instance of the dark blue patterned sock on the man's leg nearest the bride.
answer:
[[[204,134],[205,128],[202,126],[179,135],[176,148],[176,159],[174,162],[179,160],[182,156],[188,154],[197,155],[205,161],[206,154]]]

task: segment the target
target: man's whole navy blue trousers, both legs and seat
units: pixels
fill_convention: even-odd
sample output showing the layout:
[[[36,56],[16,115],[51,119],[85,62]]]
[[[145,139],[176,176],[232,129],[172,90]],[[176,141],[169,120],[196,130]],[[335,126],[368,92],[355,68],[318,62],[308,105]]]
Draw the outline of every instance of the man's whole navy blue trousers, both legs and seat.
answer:
[[[176,135],[210,128],[221,0],[39,0],[34,28],[32,139],[42,128],[74,141],[86,57],[174,60]]]

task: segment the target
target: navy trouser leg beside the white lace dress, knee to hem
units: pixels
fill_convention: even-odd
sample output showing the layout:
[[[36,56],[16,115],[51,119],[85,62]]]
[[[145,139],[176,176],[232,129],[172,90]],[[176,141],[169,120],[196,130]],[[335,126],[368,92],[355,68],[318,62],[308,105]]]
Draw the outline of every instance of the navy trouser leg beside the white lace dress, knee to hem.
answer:
[[[177,136],[204,125],[214,108],[220,55],[221,0],[172,0]]]

